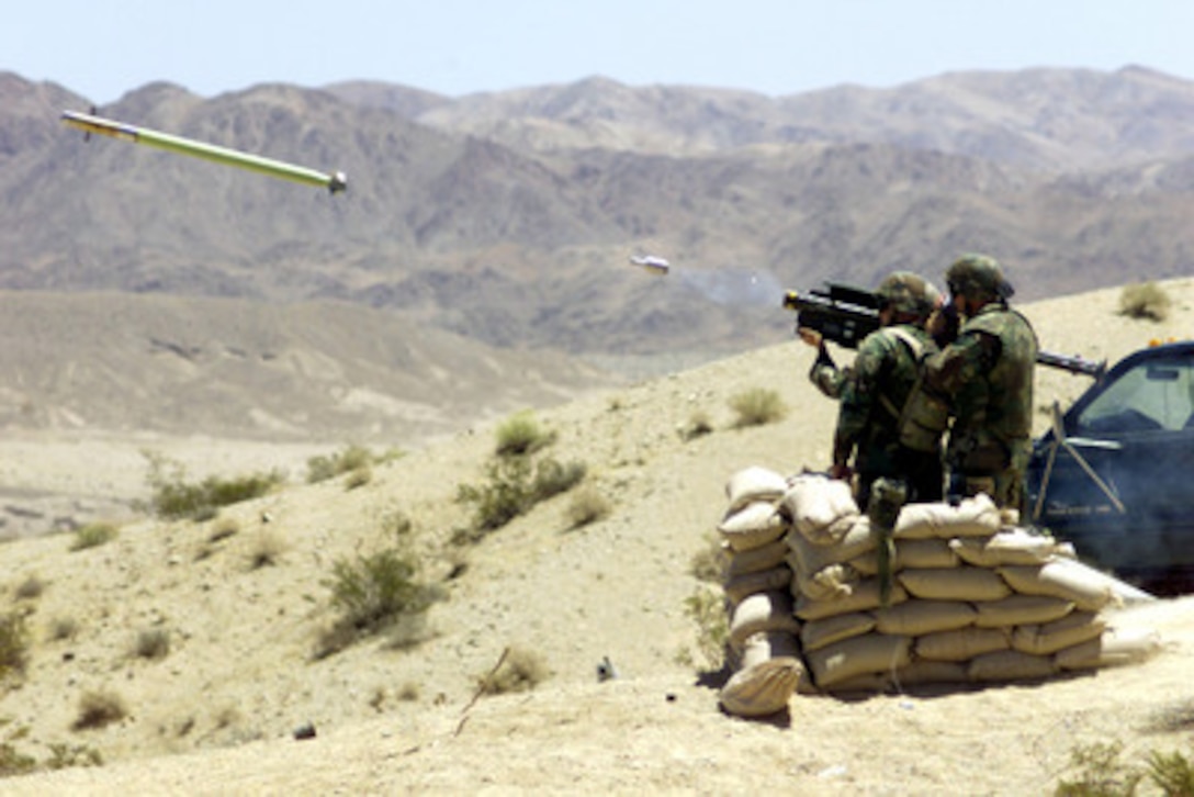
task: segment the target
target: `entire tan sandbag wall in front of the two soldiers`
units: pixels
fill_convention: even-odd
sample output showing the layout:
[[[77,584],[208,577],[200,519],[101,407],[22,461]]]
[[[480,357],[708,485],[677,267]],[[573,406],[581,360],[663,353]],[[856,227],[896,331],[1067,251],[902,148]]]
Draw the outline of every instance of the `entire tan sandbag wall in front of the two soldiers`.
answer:
[[[1018,527],[985,495],[904,507],[880,574],[879,535],[844,482],[751,467],[726,491],[736,672],[720,697],[731,713],[778,711],[798,689],[1039,680],[1158,646],[1103,612],[1151,596]]]

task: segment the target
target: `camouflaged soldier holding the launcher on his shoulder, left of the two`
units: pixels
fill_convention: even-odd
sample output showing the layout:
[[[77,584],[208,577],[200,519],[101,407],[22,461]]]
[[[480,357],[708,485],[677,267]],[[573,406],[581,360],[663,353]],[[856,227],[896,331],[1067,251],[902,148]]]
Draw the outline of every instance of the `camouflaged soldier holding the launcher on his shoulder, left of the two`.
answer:
[[[900,413],[921,361],[937,351],[925,325],[940,294],[922,277],[897,271],[884,280],[875,295],[882,326],[858,344],[853,368],[838,372],[836,380],[821,374],[821,381],[836,387],[841,400],[831,474],[848,478],[851,470],[857,473],[855,496],[863,510],[872,485],[880,478],[903,482],[909,501],[940,501],[943,480],[936,446],[913,450],[900,443],[899,434]],[[816,364],[810,375],[818,384]]]

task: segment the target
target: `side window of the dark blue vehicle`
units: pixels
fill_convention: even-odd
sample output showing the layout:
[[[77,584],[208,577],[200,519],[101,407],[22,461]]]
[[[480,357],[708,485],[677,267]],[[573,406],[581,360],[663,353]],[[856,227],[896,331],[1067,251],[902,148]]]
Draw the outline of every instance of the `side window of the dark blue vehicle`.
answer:
[[[1194,362],[1151,360],[1125,372],[1078,416],[1078,434],[1194,429]]]

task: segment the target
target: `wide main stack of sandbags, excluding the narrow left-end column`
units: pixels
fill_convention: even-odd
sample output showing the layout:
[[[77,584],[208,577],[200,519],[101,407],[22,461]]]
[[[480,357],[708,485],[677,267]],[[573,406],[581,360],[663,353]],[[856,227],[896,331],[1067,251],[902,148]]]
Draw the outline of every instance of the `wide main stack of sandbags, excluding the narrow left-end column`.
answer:
[[[904,507],[887,574],[845,483],[794,477],[778,511],[790,521],[793,612],[816,689],[1042,679],[1157,648],[1151,632],[1101,615],[1151,596],[1017,528],[985,495]]]

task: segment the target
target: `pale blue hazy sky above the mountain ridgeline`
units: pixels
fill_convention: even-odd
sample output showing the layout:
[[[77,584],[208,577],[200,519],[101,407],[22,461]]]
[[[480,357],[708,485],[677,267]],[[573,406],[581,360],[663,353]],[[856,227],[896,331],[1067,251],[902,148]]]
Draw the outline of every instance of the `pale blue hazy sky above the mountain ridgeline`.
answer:
[[[788,94],[943,72],[1194,79],[1194,0],[12,0],[0,70],[104,104],[382,80],[458,96],[604,75]]]

